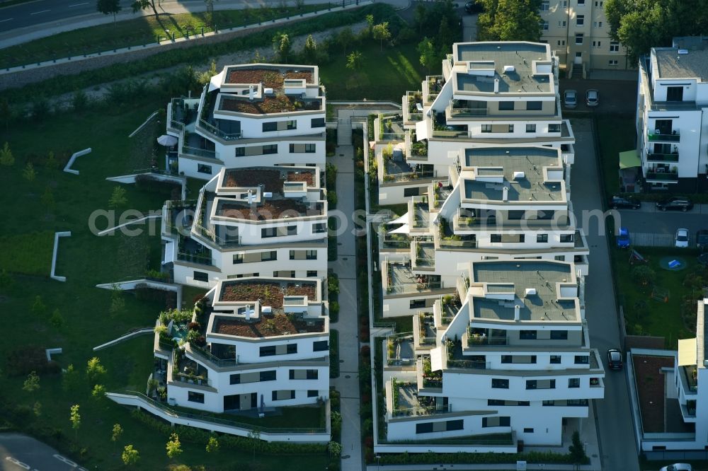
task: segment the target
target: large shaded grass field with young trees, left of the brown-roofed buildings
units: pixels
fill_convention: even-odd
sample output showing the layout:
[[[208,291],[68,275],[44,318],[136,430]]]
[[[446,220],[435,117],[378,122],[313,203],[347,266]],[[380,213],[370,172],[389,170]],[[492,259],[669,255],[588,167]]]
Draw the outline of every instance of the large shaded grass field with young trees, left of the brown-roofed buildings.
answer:
[[[154,325],[156,315],[164,309],[164,301],[138,300],[126,293],[120,295],[125,307],[111,314],[112,293],[96,288],[99,283],[143,275],[148,268],[159,269],[159,232],[150,235],[146,231],[137,237],[120,233],[97,237],[89,230],[88,221],[93,211],[108,209],[108,199],[116,184],[106,181],[106,177],[125,175],[149,166],[154,137],[163,132],[163,125],[148,125],[144,132],[132,139],[127,135],[158,107],[164,107],[164,103],[142,100],[137,104],[46,117],[31,124],[11,124],[8,133],[0,131],[0,142],[8,141],[16,159],[12,167],[0,168],[2,206],[6,216],[0,233],[0,253],[25,252],[22,257],[17,255],[18,260],[24,260],[28,250],[36,250],[29,256],[30,262],[7,267],[11,272],[10,281],[7,276],[1,278],[0,316],[4,320],[6,341],[0,344],[0,368],[3,371],[0,374],[0,414],[22,417],[16,426],[36,435],[52,437],[52,443],[62,453],[76,458],[88,469],[122,468],[118,450],[128,443],[139,450],[138,467],[145,470],[166,469],[169,463],[201,465],[207,460],[209,469],[272,470],[283,467],[286,460],[287,467],[292,470],[324,469],[327,460],[324,455],[296,458],[257,455],[257,464],[250,467],[253,465],[251,453],[224,449],[207,457],[203,445],[184,440],[184,453],[177,460],[170,461],[165,453],[167,436],[131,417],[128,409],[91,396],[93,384],[83,371],[86,361],[94,355],[107,368],[108,373],[101,379],[107,390],[130,388],[144,391],[153,366],[150,336],[137,337],[96,354],[92,348],[132,328]],[[71,153],[86,147],[93,151],[74,164],[80,175],[58,170]],[[45,166],[49,151],[57,156],[57,169]],[[28,162],[34,163],[37,172],[33,182],[21,176]],[[42,194],[47,188],[55,201],[52,207],[42,203]],[[164,200],[169,198],[169,194],[143,192],[130,185],[125,189],[126,208],[138,211],[160,209]],[[105,228],[107,223],[99,221],[97,226]],[[57,273],[67,277],[65,283],[48,278],[50,261],[45,260],[43,246],[17,242],[18,238],[33,240],[33,234],[54,231],[72,231],[71,237],[62,238],[57,257]],[[6,260],[10,259],[6,255],[3,257],[0,260],[5,267]],[[38,273],[33,276],[24,274],[33,271]],[[185,300],[191,301],[199,294],[198,290],[190,290],[185,293]],[[36,296],[41,297],[44,309],[33,309]],[[52,323],[50,318],[55,310],[59,312],[59,320]],[[25,377],[9,377],[4,367],[8,353],[26,345],[42,349],[61,347],[63,353],[56,359],[62,368],[73,364],[81,372],[76,384],[65,390],[61,375],[47,375],[41,376],[39,390],[23,391]],[[40,404],[39,416],[32,412],[37,402]],[[74,404],[80,406],[81,414],[81,426],[76,436],[69,423],[69,407]],[[115,423],[120,423],[125,430],[119,443],[110,441],[110,431]]]

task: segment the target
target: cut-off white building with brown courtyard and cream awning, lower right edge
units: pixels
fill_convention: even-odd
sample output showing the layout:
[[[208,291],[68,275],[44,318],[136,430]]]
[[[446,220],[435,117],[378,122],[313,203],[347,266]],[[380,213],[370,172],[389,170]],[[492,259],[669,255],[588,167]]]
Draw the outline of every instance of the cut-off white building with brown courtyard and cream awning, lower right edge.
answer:
[[[696,336],[679,340],[678,351],[632,349],[627,355],[637,447],[649,457],[708,448],[707,306],[708,298],[697,302]],[[658,388],[644,387],[647,376],[661,380]],[[661,417],[653,410],[657,400]]]

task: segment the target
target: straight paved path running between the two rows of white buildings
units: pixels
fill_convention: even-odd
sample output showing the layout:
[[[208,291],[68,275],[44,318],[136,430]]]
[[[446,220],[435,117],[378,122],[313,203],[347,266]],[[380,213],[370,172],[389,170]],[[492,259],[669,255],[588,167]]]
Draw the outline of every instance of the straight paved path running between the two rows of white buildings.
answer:
[[[359,322],[356,291],[356,249],[352,233],[354,212],[354,148],[351,145],[351,125],[341,119],[338,136],[349,136],[349,141],[339,140],[334,157],[327,158],[337,166],[337,209],[330,209],[346,229],[337,238],[338,258],[329,262],[329,268],[339,277],[339,320],[330,325],[339,331],[339,378],[331,384],[341,393],[342,413],[342,470],[361,471],[361,432],[359,415]]]

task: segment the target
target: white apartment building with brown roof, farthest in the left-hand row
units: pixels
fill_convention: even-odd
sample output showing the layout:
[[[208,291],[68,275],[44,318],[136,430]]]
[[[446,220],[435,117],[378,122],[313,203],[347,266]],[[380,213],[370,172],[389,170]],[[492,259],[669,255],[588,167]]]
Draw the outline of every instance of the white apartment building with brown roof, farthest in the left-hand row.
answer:
[[[323,166],[325,110],[317,66],[225,66],[199,98],[167,105],[170,168],[211,180],[224,167]]]

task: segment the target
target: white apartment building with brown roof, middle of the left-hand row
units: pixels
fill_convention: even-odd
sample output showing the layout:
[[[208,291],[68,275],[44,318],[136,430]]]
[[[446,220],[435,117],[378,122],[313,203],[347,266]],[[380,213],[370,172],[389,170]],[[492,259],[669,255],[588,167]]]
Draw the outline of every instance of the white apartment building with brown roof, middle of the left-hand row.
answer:
[[[195,204],[163,207],[163,264],[178,284],[324,279],[327,202],[317,167],[222,168]],[[192,216],[194,214],[194,216]]]

